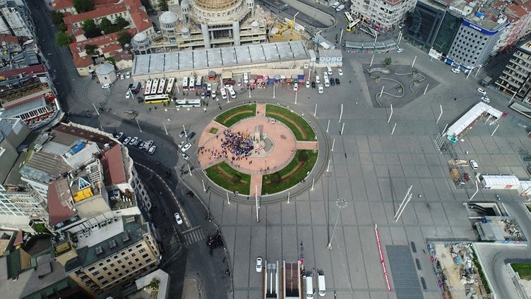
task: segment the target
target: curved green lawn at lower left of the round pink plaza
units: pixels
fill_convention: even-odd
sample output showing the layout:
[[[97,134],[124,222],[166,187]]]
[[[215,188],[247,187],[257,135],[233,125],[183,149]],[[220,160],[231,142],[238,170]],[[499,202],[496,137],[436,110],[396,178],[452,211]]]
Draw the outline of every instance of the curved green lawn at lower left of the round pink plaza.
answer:
[[[230,192],[238,191],[239,194],[249,195],[251,176],[233,169],[225,161],[205,169],[210,180]]]

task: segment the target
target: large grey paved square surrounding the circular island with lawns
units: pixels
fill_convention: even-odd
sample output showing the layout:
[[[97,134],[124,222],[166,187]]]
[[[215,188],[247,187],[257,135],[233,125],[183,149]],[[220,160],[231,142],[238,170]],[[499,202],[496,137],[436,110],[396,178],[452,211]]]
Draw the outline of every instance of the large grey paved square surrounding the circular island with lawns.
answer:
[[[191,166],[196,170],[193,176],[182,176],[181,181],[205,202],[223,233],[234,286],[226,290],[229,298],[233,295],[234,298],[259,298],[262,283],[261,275],[254,269],[257,256],[268,262],[294,262],[300,255],[305,257],[306,270],[324,271],[326,298],[334,298],[334,292],[336,298],[398,298],[395,291],[386,289],[374,224],[378,224],[387,262],[388,245],[416,243],[416,257],[422,265],[417,276],[426,281],[422,295],[424,298],[440,298],[429,255],[422,248],[426,240],[476,239],[463,207],[463,203],[475,193],[475,188],[455,190],[448,174],[448,157],[436,148],[434,136],[479,101],[479,94],[475,91],[479,85],[473,75],[465,79],[463,74],[451,73],[451,68],[441,61],[430,61],[426,54],[407,44],[401,47],[405,48],[402,54],[388,54],[393,57],[393,63],[407,66],[417,56],[415,68],[438,84],[430,85],[426,94],[411,99],[402,108],[393,104],[393,112],[390,108],[374,108],[371,101],[373,92],[364,74],[371,55],[348,53],[345,53],[342,67],[345,75],[340,77],[342,85],[326,88],[324,94],[299,87],[297,104],[294,104],[292,85],[279,85],[274,98],[271,87],[253,90],[251,97],[244,92],[229,104],[220,101],[222,110],[210,102],[206,111],[166,111],[167,107],[162,105],[149,111],[145,104],[124,97],[126,80],[118,82],[109,91],[102,90],[94,81],[85,82],[85,99],[81,100],[97,99],[105,102],[106,107],[112,107],[112,111],[106,114],[109,117],[88,119],[93,122],[92,126],[104,130],[109,128],[139,136],[142,135],[139,129],[156,131],[153,138],[158,144],[163,144],[166,137],[179,143],[178,135],[183,125],[190,131],[201,133],[202,137],[189,150]],[[375,63],[381,65],[386,56],[377,55]],[[335,68],[334,73],[337,74]],[[311,77],[315,78],[315,74]],[[349,80],[352,83],[348,83]],[[531,147],[525,128],[528,123],[506,107],[506,97],[491,89],[487,92],[491,105],[508,112],[507,118],[498,123],[479,121],[463,136],[463,141],[455,145],[455,151],[461,159],[475,159],[482,173],[515,173],[527,178],[521,157],[522,151]],[[229,204],[225,190],[210,185],[208,192],[203,191],[201,180],[208,182],[208,179],[194,153],[198,145],[206,142],[203,138],[208,133],[205,135],[204,130],[212,126],[215,116],[249,101],[278,103],[303,116],[311,126],[316,126],[318,150],[323,152],[306,183],[289,190],[289,202],[287,192],[261,197],[259,222],[256,221],[253,198],[231,197]],[[124,109],[138,111],[138,117],[125,121]],[[441,109],[441,120],[436,123]],[[498,124],[499,128],[491,136]],[[279,124],[272,126],[279,128]],[[391,135],[393,127],[395,131]],[[287,148],[290,147],[292,145]],[[169,146],[157,147],[153,157],[175,169],[185,162],[179,161],[175,148]],[[395,222],[394,214],[410,185],[415,196],[400,220]],[[509,211],[522,209],[524,199],[517,193],[507,191],[500,195]],[[338,216],[335,205],[338,198],[344,198],[347,207],[341,209],[332,249],[328,250],[327,244]],[[480,190],[475,195],[475,201],[493,200],[494,191]],[[523,230],[531,236],[526,226]],[[394,290],[393,276],[396,274],[391,267],[387,270]]]

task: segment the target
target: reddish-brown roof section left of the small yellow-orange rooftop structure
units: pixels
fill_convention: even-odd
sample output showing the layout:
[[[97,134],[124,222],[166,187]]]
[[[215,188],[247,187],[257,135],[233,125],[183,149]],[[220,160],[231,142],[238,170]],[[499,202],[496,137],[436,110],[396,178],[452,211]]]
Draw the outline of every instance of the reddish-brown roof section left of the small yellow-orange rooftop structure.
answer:
[[[66,178],[59,178],[59,180],[48,185],[48,214],[50,226],[54,226],[59,222],[76,215],[76,212],[71,209],[71,197],[72,195],[70,188],[68,188],[68,181],[66,181]]]

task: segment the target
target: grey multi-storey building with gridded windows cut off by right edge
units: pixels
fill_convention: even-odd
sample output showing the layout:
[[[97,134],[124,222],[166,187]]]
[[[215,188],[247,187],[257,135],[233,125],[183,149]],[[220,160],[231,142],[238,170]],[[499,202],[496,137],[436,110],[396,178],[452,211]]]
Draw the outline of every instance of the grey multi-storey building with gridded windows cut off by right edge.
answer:
[[[494,85],[513,99],[531,104],[531,40],[520,44]]]

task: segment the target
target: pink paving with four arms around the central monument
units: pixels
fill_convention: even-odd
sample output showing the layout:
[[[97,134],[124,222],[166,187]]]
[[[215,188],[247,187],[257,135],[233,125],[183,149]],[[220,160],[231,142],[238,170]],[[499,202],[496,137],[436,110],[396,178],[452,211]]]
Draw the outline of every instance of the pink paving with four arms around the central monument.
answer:
[[[232,133],[244,133],[253,136],[254,128],[260,128],[261,134],[267,135],[273,140],[273,149],[264,157],[237,157],[227,152],[227,157],[219,157],[216,153],[222,151],[221,143],[224,138],[223,131],[227,127],[216,121],[211,121],[201,133],[199,138],[198,157],[201,169],[207,169],[210,166],[225,161],[234,169],[251,175],[251,190],[249,195],[261,196],[262,176],[264,174],[274,173],[284,168],[292,161],[296,150],[318,150],[316,141],[297,141],[290,128],[280,121],[270,121],[266,118],[266,104],[256,104],[256,116],[247,118],[231,126],[229,129]],[[213,128],[217,129],[215,134],[210,133]]]

